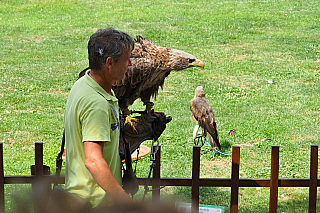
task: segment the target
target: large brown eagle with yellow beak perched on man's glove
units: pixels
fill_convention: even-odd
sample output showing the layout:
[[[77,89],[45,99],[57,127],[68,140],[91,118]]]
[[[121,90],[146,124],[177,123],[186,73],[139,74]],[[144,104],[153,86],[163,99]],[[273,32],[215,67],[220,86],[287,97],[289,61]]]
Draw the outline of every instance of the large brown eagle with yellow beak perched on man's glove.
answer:
[[[189,67],[202,67],[202,61],[181,50],[160,47],[153,42],[137,36],[130,57],[132,66],[128,67],[124,79],[116,82],[112,89],[119,101],[119,107],[129,115],[128,107],[140,98],[147,111],[153,106],[151,97],[156,98],[159,87],[163,87],[165,78],[171,71]],[[85,71],[85,70],[84,70]],[[79,74],[79,77],[84,72]]]

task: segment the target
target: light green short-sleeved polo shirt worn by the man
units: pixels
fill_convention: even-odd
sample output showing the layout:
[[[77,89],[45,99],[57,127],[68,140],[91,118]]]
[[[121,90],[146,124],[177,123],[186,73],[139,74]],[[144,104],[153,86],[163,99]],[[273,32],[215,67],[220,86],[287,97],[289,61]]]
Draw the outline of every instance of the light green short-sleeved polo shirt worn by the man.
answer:
[[[119,129],[115,128],[117,115],[119,115],[117,98],[109,95],[88,75],[88,72],[73,85],[64,117],[65,188],[73,194],[90,200],[92,207],[97,207],[104,199],[108,199],[106,192],[96,183],[85,166],[83,142],[105,142],[103,157],[115,179],[121,184]]]

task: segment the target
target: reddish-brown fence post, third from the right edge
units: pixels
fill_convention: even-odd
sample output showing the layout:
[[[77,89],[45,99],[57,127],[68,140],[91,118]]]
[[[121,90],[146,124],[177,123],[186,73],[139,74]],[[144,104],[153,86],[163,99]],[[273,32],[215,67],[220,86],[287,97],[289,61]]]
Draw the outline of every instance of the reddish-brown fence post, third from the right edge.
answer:
[[[239,166],[240,166],[240,146],[232,146],[230,213],[237,213],[238,212]]]

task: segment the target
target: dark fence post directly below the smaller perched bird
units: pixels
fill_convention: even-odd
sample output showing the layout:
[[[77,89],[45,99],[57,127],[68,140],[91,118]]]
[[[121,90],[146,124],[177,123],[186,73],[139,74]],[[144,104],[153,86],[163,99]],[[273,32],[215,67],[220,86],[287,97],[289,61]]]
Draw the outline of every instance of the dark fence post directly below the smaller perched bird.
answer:
[[[199,183],[200,183],[200,149],[201,146],[193,146],[192,158],[192,203],[191,212],[199,212]]]

